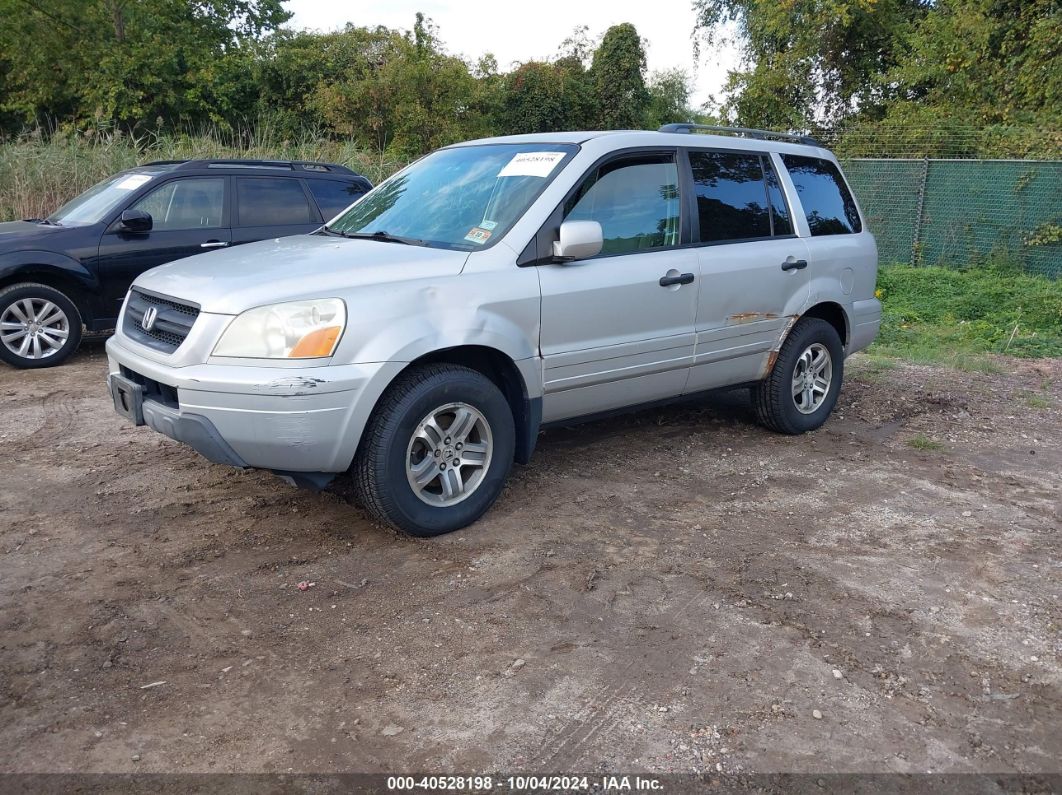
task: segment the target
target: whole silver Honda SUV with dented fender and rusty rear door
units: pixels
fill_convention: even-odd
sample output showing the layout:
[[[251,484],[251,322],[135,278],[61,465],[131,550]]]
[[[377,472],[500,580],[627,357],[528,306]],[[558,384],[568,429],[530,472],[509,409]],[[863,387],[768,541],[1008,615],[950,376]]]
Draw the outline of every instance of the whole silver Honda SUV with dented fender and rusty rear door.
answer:
[[[462,528],[544,425],[724,386],[821,426],[880,324],[837,159],[760,131],[490,138],[439,150],[311,235],[140,276],[115,409],[210,461],[378,519]]]

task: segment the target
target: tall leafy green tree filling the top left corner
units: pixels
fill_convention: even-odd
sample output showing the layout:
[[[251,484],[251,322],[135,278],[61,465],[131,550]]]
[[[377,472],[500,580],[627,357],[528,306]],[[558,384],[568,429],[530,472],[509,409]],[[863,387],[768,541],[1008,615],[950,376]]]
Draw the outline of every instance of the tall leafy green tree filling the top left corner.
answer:
[[[136,128],[224,120],[226,57],[291,15],[281,0],[0,0],[0,114]],[[219,107],[220,103],[220,107]]]

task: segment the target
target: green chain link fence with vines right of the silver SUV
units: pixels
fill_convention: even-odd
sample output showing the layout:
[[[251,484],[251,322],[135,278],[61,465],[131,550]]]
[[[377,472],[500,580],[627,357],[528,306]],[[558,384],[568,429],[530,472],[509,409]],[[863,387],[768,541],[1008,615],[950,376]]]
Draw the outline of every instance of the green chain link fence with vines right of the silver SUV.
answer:
[[[1062,132],[864,125],[817,135],[841,159],[883,263],[1006,259],[1062,275]]]

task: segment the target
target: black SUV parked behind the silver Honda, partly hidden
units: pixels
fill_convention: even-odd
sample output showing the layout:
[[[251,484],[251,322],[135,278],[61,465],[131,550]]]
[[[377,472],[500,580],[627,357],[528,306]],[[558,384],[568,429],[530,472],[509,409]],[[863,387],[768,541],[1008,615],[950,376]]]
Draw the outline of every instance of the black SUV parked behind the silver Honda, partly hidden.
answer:
[[[115,327],[149,267],[313,231],[371,188],[331,163],[169,160],[104,179],[47,219],[0,224],[0,359],[61,364],[82,326]]]

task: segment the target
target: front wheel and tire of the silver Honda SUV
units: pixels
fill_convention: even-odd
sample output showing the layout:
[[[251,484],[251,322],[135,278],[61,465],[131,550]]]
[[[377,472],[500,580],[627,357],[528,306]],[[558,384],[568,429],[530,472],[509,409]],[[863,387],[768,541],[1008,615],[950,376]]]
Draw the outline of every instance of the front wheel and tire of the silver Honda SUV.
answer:
[[[512,410],[494,382],[468,367],[414,367],[369,420],[355,490],[374,518],[410,535],[450,533],[498,499],[514,449]]]

